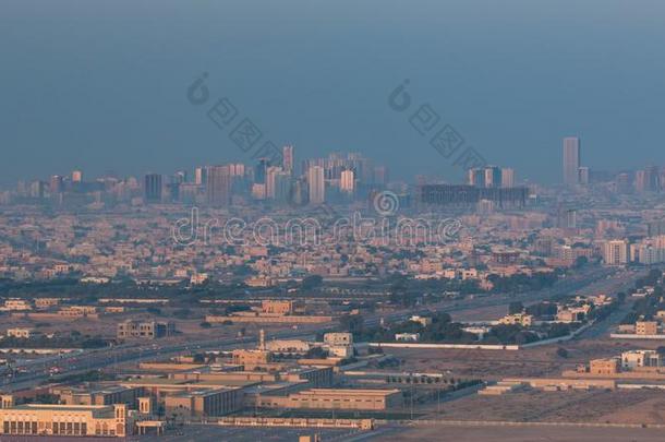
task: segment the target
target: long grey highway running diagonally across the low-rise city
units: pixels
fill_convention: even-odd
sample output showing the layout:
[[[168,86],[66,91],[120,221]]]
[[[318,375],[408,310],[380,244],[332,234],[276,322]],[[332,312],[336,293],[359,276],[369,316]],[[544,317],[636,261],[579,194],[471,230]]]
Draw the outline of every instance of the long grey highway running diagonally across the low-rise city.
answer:
[[[630,276],[630,277],[629,277]],[[409,310],[400,310],[388,314],[372,314],[365,318],[365,325],[377,325],[382,318],[387,321],[399,321],[409,318],[412,314],[426,314],[428,312],[455,312],[473,310],[481,307],[507,306],[512,301],[521,301],[524,303],[535,302],[542,299],[548,299],[556,296],[579,292],[613,292],[615,287],[627,283],[638,274],[627,274],[625,271],[606,267],[591,267],[585,272],[570,276],[557,282],[548,289],[530,291],[519,295],[482,295],[475,296],[472,299],[462,300],[446,300],[436,304],[426,307],[416,307]],[[310,338],[316,332],[334,331],[336,324],[329,323],[325,325],[309,325],[301,326],[298,330],[285,330],[273,333],[270,337],[275,338]],[[149,344],[125,344],[110,348],[86,349],[78,353],[66,354],[58,357],[48,357],[33,361],[23,362],[15,366],[15,375],[3,375],[2,390],[17,391],[28,387],[34,387],[40,382],[52,379],[57,381],[62,375],[81,374],[90,370],[108,369],[117,365],[141,361],[144,359],[164,359],[180,354],[197,351],[197,350],[230,350],[239,346],[250,346],[255,344],[256,336],[245,336],[240,338],[215,338],[207,341],[198,341],[193,343],[169,344],[164,342],[150,342]],[[59,373],[51,377],[48,372],[50,368],[56,368]]]

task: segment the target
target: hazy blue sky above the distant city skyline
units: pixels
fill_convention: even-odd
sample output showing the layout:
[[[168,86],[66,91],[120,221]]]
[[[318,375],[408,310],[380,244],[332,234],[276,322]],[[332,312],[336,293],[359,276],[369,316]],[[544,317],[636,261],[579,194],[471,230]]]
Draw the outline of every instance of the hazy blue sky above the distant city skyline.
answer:
[[[556,181],[665,164],[665,2],[3,0],[1,182],[250,162],[185,89],[297,157],[361,151],[391,175],[461,172],[387,106],[403,79],[489,163]]]

